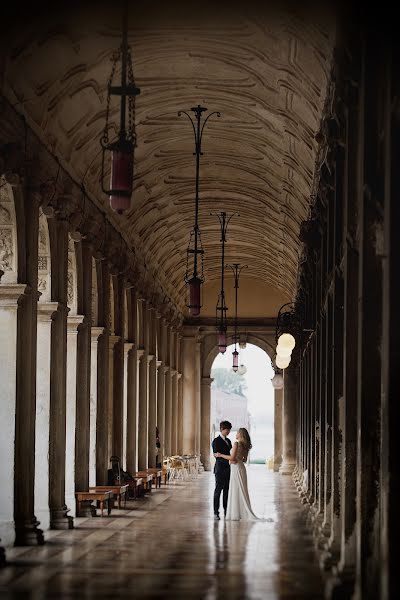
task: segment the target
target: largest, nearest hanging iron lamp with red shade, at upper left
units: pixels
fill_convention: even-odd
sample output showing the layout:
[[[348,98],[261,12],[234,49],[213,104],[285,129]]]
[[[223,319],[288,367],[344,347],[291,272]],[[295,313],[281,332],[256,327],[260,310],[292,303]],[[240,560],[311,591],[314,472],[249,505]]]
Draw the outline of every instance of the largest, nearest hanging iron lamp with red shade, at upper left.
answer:
[[[100,144],[102,147],[101,187],[110,197],[110,206],[122,214],[131,205],[133,191],[133,159],[136,147],[135,97],[140,94],[133,79],[132,55],[128,46],[128,3],[124,3],[122,18],[122,43],[113,56],[113,65],[107,86],[106,123]],[[117,64],[121,62],[121,83],[113,85]],[[110,141],[110,104],[111,97],[120,97],[119,131],[117,139]],[[128,122],[127,122],[128,120]],[[104,185],[106,153],[111,154],[110,187]]]

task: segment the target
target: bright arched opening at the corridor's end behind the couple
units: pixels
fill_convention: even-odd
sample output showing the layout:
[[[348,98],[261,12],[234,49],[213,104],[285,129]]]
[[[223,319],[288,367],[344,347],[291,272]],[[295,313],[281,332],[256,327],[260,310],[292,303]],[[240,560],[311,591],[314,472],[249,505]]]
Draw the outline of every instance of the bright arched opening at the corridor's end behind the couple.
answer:
[[[222,420],[232,423],[230,439],[233,442],[239,427],[250,433],[253,448],[249,455],[250,464],[274,464],[275,411],[274,389],[271,378],[274,371],[268,354],[254,344],[240,349],[239,365],[245,366],[234,373],[232,352],[228,346],[225,354],[215,358],[211,377],[211,441],[219,435]],[[244,369],[243,369],[244,370]],[[211,457],[211,467],[214,465]]]

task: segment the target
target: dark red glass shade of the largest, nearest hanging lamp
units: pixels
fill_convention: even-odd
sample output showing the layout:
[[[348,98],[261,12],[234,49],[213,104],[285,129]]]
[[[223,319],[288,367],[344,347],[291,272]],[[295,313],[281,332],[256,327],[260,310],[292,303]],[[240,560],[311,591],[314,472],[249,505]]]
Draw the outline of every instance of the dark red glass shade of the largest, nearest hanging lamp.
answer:
[[[131,206],[133,189],[133,145],[118,145],[111,150],[110,205],[122,213]]]

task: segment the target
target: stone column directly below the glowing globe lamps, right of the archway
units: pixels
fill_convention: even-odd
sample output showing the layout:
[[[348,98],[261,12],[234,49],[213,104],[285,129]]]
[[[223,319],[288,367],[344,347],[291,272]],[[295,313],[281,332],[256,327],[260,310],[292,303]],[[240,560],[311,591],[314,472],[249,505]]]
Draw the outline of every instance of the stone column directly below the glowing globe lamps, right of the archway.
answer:
[[[282,465],[281,475],[291,475],[296,465],[296,397],[297,377],[293,367],[284,370],[282,411]]]

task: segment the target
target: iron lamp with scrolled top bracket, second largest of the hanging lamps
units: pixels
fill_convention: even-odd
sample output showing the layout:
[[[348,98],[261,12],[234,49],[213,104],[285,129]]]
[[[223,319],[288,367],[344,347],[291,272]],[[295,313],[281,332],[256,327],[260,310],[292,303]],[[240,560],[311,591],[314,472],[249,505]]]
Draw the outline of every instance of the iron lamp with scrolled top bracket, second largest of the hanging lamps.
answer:
[[[194,152],[193,155],[196,157],[196,192],[195,192],[195,215],[194,215],[194,226],[190,232],[189,244],[186,251],[186,274],[185,283],[188,290],[188,301],[186,306],[189,309],[189,314],[192,317],[197,317],[200,314],[202,306],[201,300],[201,286],[204,283],[203,273],[203,256],[204,250],[201,243],[201,234],[199,228],[199,176],[200,176],[200,156],[203,155],[201,151],[201,142],[203,139],[203,131],[207,121],[213,115],[220,117],[219,112],[212,112],[204,119],[201,123],[202,113],[207,110],[204,106],[195,106],[190,109],[194,113],[192,118],[189,113],[182,110],[178,113],[180,115],[186,115],[192,124],[194,132]],[[199,257],[201,258],[201,265],[199,267]]]

